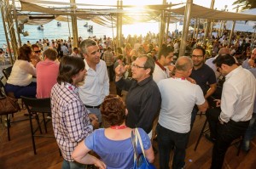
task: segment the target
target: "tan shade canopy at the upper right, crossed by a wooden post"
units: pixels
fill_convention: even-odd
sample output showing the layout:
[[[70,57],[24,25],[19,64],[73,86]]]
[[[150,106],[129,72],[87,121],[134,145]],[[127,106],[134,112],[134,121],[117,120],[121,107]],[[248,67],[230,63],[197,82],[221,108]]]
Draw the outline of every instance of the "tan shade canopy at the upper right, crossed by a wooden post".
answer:
[[[176,14],[183,14],[185,11],[185,6],[181,8],[171,9]],[[239,14],[232,12],[224,12],[219,10],[214,10],[211,8],[205,8],[200,5],[192,4],[191,8],[191,18],[201,18],[210,20],[256,20],[256,14]]]

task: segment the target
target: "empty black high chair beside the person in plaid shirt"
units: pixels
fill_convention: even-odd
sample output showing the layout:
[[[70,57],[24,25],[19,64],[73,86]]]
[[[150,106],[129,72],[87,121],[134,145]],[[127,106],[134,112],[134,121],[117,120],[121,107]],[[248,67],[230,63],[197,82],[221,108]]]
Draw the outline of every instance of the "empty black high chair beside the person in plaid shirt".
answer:
[[[42,129],[41,129],[41,126],[40,126],[40,124],[42,122],[44,122],[44,130],[47,133],[47,127],[46,127],[47,121],[45,121],[44,114],[51,113],[50,99],[49,98],[33,99],[33,98],[26,98],[24,96],[21,96],[21,99],[22,99],[23,103],[26,105],[26,109],[29,113],[29,121],[30,121],[30,128],[31,128],[31,134],[32,134],[32,146],[33,146],[33,150],[34,150],[34,155],[37,155],[35,137],[54,138],[53,135],[47,135],[47,134],[43,135]],[[43,120],[42,121],[39,120],[39,114],[43,115]],[[32,125],[32,116],[33,115],[35,115],[35,119],[38,122],[38,127],[35,128],[35,129],[33,128],[33,125]],[[38,129],[40,131],[40,134],[37,134]]]

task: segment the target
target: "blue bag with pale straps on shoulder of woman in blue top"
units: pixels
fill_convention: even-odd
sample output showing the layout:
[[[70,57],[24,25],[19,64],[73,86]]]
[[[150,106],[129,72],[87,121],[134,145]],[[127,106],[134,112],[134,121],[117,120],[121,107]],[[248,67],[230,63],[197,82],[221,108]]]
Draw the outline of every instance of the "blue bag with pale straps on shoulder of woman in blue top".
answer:
[[[138,155],[137,151],[137,141],[141,146],[142,154]],[[134,129],[134,131],[131,132],[131,143],[134,151],[134,165],[133,169],[156,169],[153,164],[149,163],[147,158],[145,157],[145,152],[143,148],[143,141],[140,135],[140,132],[137,128]]]

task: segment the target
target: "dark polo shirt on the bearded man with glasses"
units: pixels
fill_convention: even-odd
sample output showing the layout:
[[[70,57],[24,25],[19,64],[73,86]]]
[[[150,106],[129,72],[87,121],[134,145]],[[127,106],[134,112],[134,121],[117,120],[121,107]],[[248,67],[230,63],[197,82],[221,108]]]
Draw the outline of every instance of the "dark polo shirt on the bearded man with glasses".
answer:
[[[196,84],[201,87],[204,95],[209,89],[208,85],[216,83],[216,76],[214,71],[206,64],[203,64],[198,70],[193,68],[190,77],[193,78]]]

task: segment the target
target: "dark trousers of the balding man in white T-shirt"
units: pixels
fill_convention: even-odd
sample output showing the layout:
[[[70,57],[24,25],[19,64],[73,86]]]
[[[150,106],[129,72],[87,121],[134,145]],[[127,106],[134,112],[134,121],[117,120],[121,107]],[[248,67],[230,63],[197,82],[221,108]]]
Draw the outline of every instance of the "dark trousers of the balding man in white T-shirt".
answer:
[[[157,142],[160,155],[160,169],[169,169],[170,153],[174,148],[172,169],[181,169],[185,165],[186,145],[189,141],[189,132],[173,132],[160,124],[156,127]]]

